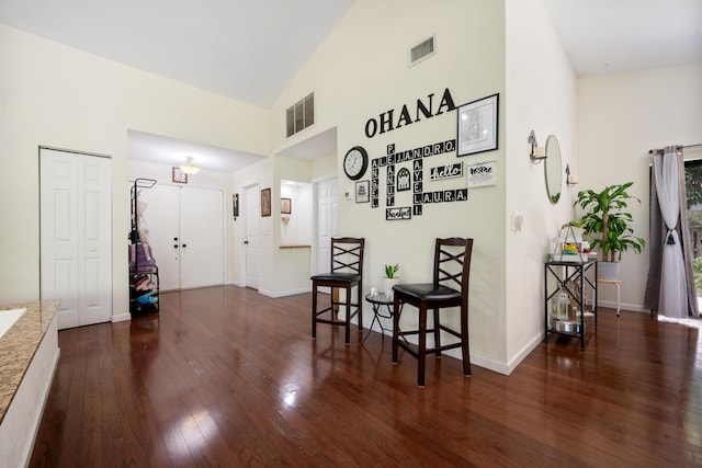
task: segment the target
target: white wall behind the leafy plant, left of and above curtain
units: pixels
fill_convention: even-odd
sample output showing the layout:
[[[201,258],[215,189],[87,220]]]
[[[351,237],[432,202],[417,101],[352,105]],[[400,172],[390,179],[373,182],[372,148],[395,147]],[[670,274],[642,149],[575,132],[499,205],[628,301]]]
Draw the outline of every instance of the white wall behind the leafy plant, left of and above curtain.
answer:
[[[633,181],[636,236],[648,241],[649,149],[702,142],[702,64],[578,80],[578,190]],[[686,158],[702,158],[700,149]],[[643,310],[648,251],[624,253],[622,307]],[[615,303],[615,292],[600,298]]]

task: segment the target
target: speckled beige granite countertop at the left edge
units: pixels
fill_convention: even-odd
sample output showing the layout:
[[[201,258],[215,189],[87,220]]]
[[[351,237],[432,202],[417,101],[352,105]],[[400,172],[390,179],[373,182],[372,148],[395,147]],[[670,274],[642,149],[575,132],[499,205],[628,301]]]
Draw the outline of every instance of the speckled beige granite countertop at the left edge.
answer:
[[[3,310],[26,308],[22,317],[0,338],[0,423],[59,304],[59,299],[52,299],[0,306],[0,313]]]

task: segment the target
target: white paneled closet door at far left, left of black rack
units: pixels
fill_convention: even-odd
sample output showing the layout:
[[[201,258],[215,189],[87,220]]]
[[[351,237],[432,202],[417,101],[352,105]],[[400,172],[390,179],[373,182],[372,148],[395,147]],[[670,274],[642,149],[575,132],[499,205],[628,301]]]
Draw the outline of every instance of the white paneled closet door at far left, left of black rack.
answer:
[[[58,328],[112,319],[112,161],[42,148],[42,299],[61,300]]]

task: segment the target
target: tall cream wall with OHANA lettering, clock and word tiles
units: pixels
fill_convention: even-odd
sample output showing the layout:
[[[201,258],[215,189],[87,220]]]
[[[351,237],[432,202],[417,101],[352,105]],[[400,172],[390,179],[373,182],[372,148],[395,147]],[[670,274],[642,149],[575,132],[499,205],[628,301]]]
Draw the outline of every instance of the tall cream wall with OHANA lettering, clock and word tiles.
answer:
[[[408,49],[435,34],[437,55],[408,68]],[[418,99],[434,94],[434,110],[449,88],[460,105],[500,93],[499,149],[460,158],[476,163],[497,160],[495,186],[474,190],[463,203],[424,205],[423,215],[409,221],[386,221],[381,207],[341,197],[340,232],[366,238],[364,287],[378,286],[383,265],[399,263],[405,282],[431,278],[437,237],[475,238],[471,286],[471,346],[474,362],[497,367],[506,361],[505,343],[505,10],[502,2],[446,0],[358,0],[295,77],[272,109],[275,148],[293,146],[328,128],[337,128],[338,161],[349,148],[362,145],[371,158],[386,146],[411,149],[456,135],[456,113],[448,112],[386,134],[367,138],[369,118],[412,107]],[[315,93],[316,124],[304,135],[283,139],[284,111],[310,91]],[[278,118],[280,116],[280,118]],[[455,152],[427,160],[427,167],[455,162]],[[353,192],[354,183],[337,165],[339,193]],[[364,179],[370,179],[370,172]],[[446,181],[428,190],[455,184]],[[465,187],[466,182],[462,181]],[[410,204],[410,193],[396,206]],[[370,322],[369,313],[365,313]],[[455,323],[456,317],[453,317]]]

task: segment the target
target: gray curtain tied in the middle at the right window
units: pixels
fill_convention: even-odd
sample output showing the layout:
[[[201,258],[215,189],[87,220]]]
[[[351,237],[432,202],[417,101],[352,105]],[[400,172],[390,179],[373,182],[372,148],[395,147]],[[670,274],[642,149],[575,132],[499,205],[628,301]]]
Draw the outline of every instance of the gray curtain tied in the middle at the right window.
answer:
[[[649,271],[644,307],[667,317],[699,317],[688,229],[684,161],[680,147],[666,147],[663,153],[654,155],[653,171]],[[667,185],[671,185],[668,191]],[[661,203],[665,206],[663,213]],[[680,209],[671,216],[670,206],[676,203]],[[668,215],[668,224],[664,213]],[[671,266],[670,263],[675,263],[670,260],[672,256],[679,256],[682,265]],[[668,265],[664,266],[666,262]]]

